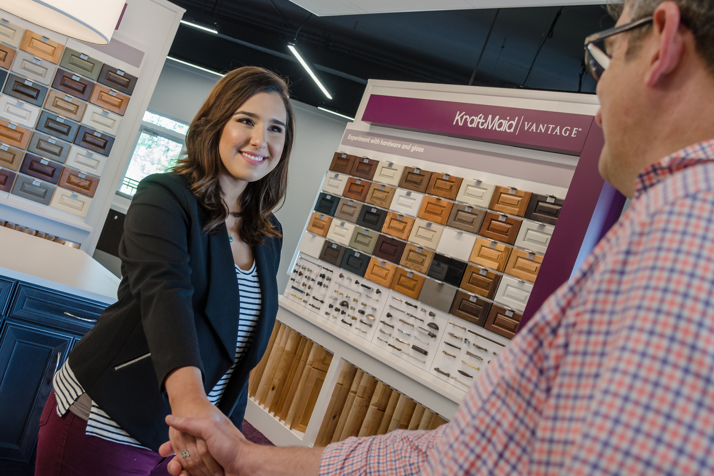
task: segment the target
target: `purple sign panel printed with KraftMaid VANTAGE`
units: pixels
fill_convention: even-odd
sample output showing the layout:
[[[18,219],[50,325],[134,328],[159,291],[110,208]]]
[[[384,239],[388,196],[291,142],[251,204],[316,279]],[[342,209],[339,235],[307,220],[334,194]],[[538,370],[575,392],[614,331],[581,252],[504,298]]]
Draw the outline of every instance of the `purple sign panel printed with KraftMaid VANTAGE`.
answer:
[[[476,141],[579,156],[593,116],[373,94],[362,120]]]

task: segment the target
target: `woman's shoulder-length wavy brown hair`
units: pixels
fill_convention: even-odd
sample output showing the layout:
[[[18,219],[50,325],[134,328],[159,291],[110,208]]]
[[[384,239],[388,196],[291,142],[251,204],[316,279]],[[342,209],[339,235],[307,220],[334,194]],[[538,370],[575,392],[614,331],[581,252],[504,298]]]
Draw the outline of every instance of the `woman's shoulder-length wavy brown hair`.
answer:
[[[272,71],[255,66],[243,66],[223,76],[191,121],[186,135],[186,156],[179,159],[173,168],[176,173],[188,178],[191,192],[206,208],[208,220],[203,230],[211,235],[218,233],[228,218],[228,206],[218,183],[221,171],[218,143],[223,127],[233,113],[256,93],[278,93],[285,104],[288,121],[283,155],[278,165],[265,177],[248,183],[239,199],[241,220],[238,222],[238,236],[248,245],[258,245],[266,236],[281,236],[268,217],[285,198],[288,159],[295,138],[295,121],[287,83]]]

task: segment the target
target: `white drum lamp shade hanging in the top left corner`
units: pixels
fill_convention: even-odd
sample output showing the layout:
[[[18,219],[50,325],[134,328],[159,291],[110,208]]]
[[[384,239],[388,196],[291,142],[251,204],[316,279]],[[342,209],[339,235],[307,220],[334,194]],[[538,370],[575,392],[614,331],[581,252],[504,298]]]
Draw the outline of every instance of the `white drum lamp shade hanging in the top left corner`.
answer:
[[[125,0],[0,0],[0,8],[21,19],[86,43],[111,40]]]

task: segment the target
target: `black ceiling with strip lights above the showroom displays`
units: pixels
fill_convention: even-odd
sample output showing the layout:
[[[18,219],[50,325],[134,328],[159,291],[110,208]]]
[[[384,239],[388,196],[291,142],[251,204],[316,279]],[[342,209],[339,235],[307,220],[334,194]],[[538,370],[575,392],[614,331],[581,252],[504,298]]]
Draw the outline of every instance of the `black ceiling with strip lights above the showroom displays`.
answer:
[[[583,40],[614,24],[599,5],[500,9],[494,22],[496,9],[310,16],[289,0],[173,1],[218,35],[182,24],[169,56],[213,71],[263,66],[288,77],[296,100],[350,116],[367,79],[468,84],[482,49],[476,86],[591,93]],[[332,100],[288,51],[301,25],[297,48]]]

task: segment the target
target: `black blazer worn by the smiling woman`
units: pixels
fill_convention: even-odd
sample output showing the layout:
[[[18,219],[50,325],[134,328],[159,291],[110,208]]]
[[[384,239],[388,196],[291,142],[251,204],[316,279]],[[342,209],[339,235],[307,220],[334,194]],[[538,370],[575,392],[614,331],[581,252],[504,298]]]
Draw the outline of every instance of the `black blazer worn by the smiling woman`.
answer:
[[[69,355],[70,368],[92,400],[154,451],[169,440],[166,375],[198,367],[208,394],[236,355],[240,297],[228,232],[223,226],[208,236],[205,223],[203,207],[183,176],[144,178],[119,245],[119,300]],[[281,231],[272,215],[271,223]],[[278,312],[282,244],[282,238],[266,238],[253,247],[261,313],[251,348],[218,405],[238,428],[246,411],[248,373],[266,350]]]

